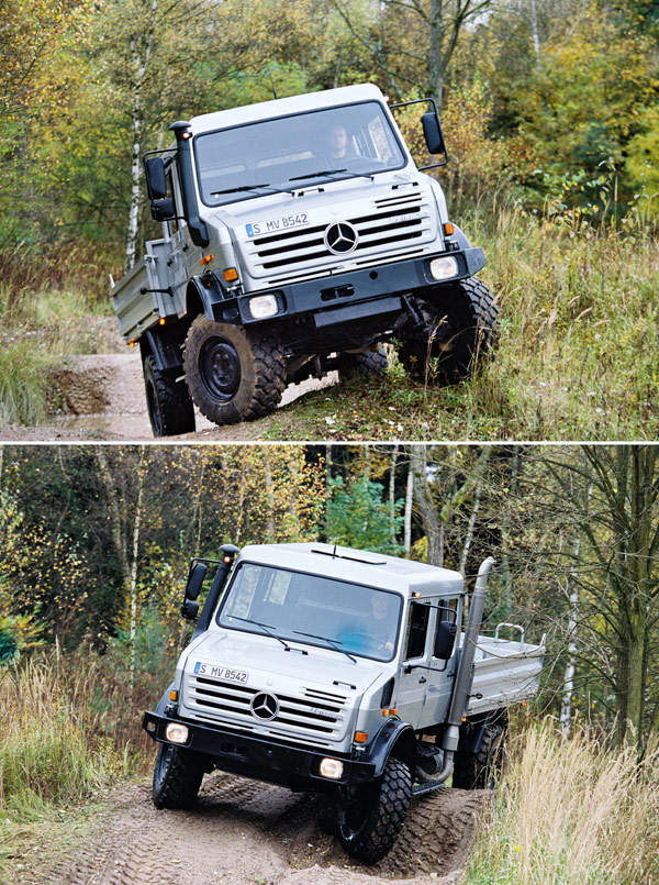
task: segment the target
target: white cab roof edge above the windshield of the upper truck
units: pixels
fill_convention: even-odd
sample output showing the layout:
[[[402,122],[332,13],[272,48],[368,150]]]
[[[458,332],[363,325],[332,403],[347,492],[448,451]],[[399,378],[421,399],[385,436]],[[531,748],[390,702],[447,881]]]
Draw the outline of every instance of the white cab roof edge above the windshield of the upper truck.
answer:
[[[369,99],[384,100],[384,96],[373,84],[342,86],[338,89],[325,89],[320,92],[308,92],[303,96],[260,101],[258,104],[245,104],[242,108],[231,108],[226,111],[203,113],[200,117],[193,117],[190,121],[190,126],[192,134],[199,135],[202,132],[212,132],[215,129],[238,126],[243,123],[255,123],[258,120],[286,117],[289,113],[333,108],[337,104],[350,104],[356,101],[368,101]]]

